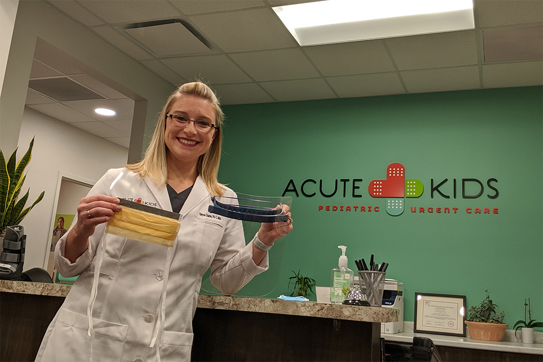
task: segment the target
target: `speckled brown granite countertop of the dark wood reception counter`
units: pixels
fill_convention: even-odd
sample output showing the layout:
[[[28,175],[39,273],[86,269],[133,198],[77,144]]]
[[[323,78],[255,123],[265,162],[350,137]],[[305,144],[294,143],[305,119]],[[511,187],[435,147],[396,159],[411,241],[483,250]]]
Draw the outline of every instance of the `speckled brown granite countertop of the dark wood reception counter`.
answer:
[[[2,293],[8,292],[65,297],[68,295],[70,288],[71,285],[62,284],[0,281],[0,292]],[[377,323],[393,322],[400,319],[400,310],[394,308],[343,306],[341,304],[204,294],[201,294],[198,297],[198,308],[289,314]]]

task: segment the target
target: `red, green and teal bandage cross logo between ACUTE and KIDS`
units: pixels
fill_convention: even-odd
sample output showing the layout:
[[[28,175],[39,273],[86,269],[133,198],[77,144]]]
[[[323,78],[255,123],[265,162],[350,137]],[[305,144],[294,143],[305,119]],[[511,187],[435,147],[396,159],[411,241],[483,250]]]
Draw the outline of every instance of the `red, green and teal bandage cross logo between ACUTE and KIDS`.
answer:
[[[373,180],[368,185],[372,197],[386,198],[387,213],[393,216],[403,213],[403,200],[406,197],[418,198],[424,190],[420,180],[406,180],[405,174],[405,167],[401,163],[391,163],[387,167],[386,180]]]

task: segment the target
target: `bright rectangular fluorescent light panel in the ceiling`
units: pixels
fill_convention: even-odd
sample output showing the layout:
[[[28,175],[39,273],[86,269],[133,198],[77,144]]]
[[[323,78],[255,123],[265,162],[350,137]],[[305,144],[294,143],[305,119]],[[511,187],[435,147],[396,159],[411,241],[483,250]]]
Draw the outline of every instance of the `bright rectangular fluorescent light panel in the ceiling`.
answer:
[[[301,46],[475,28],[472,0],[325,0],[273,9]]]

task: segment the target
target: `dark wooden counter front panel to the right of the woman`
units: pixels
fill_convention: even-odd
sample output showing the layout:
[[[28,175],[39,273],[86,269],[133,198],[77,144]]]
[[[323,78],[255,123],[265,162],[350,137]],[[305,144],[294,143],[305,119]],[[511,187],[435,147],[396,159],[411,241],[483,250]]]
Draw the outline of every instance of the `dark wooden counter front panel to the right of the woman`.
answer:
[[[381,323],[198,308],[192,361],[379,361]]]

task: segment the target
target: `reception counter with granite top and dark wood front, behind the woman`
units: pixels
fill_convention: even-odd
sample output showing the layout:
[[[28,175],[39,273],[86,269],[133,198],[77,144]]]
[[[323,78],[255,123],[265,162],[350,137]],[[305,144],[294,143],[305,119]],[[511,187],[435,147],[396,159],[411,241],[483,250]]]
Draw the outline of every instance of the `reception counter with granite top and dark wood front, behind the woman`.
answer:
[[[0,281],[0,360],[33,360],[69,285]],[[378,361],[392,308],[200,295],[193,361]]]

